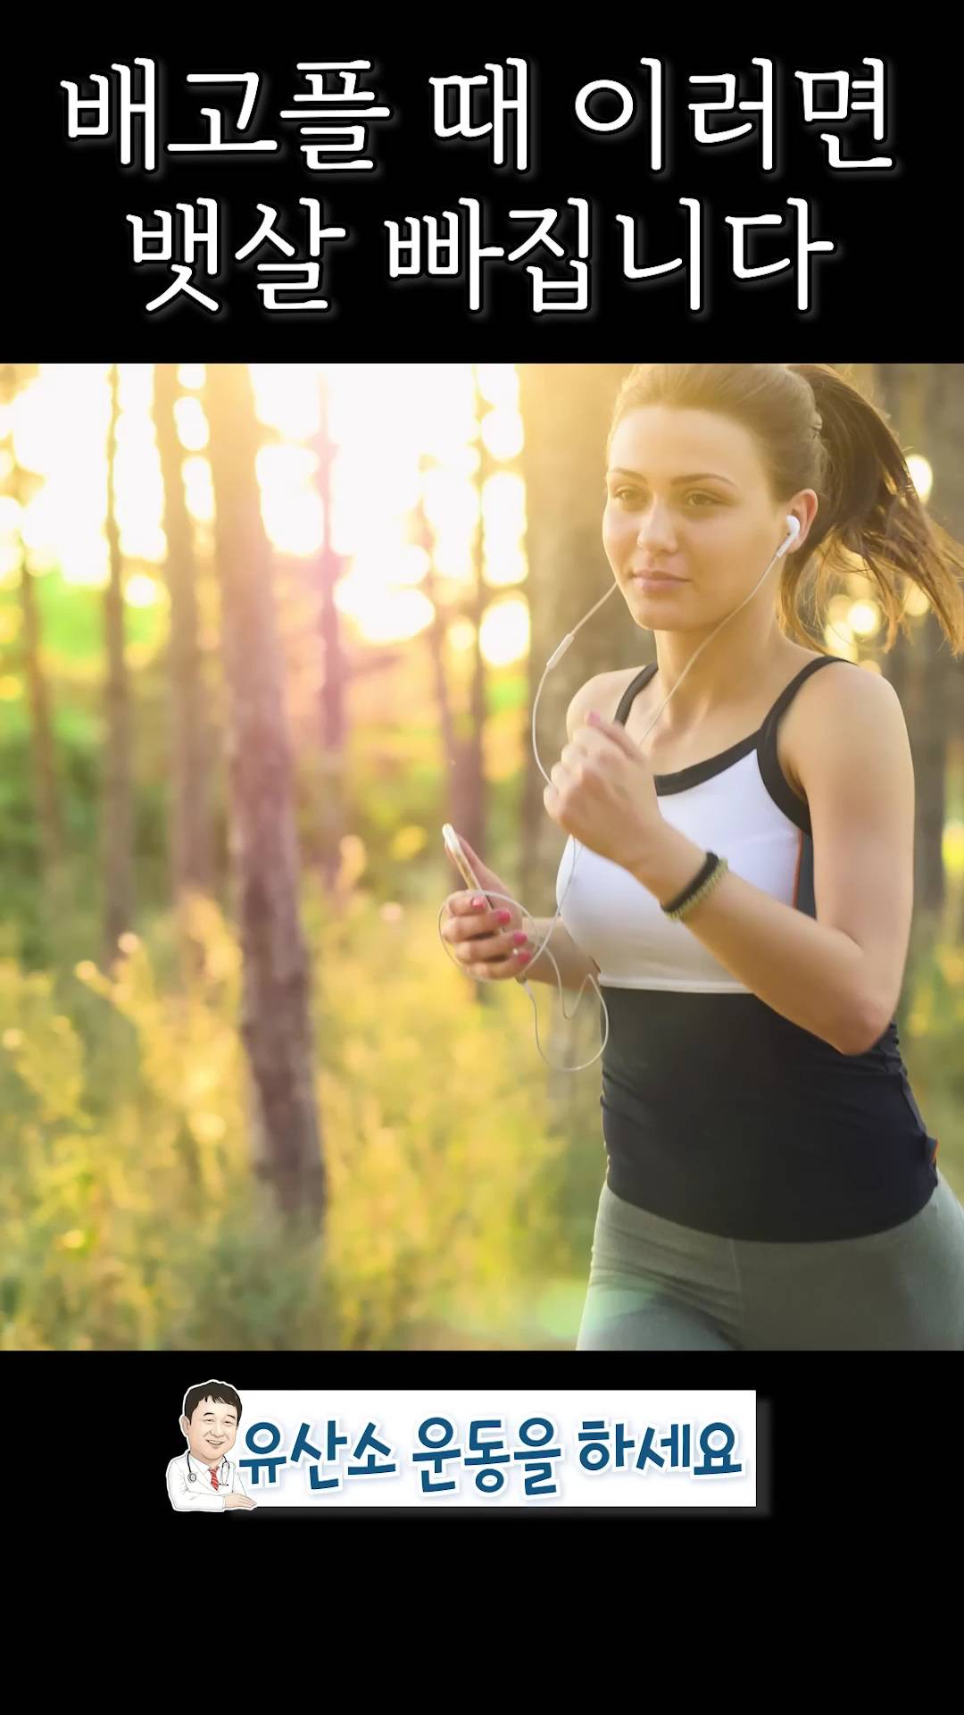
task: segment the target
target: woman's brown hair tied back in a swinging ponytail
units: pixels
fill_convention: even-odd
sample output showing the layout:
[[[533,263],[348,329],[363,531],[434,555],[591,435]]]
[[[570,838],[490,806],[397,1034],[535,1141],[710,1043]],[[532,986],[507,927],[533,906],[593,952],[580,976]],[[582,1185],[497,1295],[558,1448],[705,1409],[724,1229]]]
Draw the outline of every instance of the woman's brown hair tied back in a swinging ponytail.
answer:
[[[863,573],[887,619],[885,653],[897,628],[909,635],[902,580],[931,604],[952,655],[964,652],[962,545],[923,506],[883,413],[832,364],[636,364],[626,376],[606,451],[618,424],[642,405],[719,412],[756,437],[770,490],[787,499],[813,489],[820,509],[798,552],[780,568],[777,623],[798,641],[830,653],[799,614],[801,585],[813,568],[813,611],[834,580]]]

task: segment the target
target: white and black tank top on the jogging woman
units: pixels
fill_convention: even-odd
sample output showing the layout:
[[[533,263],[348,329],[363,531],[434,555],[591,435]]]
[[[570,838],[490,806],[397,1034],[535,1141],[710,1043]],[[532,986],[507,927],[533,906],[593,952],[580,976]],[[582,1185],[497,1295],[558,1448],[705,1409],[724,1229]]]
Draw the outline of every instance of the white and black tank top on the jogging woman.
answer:
[[[804,679],[837,660],[808,662],[763,725],[719,756],[654,777],[666,821],[811,918],[810,813],[782,773],[777,725]],[[655,671],[636,674],[616,720]],[[895,1020],[866,1053],[839,1053],[753,995],[628,870],[578,845],[573,873],[575,852],[569,837],[556,904],[573,875],[563,923],[599,964],[609,1012],[611,1190],[667,1221],[765,1242],[856,1238],[923,1209],[938,1146]]]

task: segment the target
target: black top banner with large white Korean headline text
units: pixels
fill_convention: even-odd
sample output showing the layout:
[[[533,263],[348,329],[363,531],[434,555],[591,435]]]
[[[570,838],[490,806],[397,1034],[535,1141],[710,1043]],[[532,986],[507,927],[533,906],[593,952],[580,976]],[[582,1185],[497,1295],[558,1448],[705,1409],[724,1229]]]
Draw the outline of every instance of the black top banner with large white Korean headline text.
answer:
[[[955,91],[883,26],[535,51],[309,19],[21,62],[2,293],[79,358],[957,350]],[[259,41],[262,45],[259,45]],[[508,51],[506,51],[508,45]],[[866,345],[866,353],[863,346]]]

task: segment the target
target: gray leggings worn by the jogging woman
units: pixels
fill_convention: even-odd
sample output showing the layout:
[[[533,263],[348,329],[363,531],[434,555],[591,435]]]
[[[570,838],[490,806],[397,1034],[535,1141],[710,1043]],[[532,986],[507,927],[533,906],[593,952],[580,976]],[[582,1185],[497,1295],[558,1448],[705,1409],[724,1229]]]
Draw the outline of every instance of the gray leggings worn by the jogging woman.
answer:
[[[964,1351],[964,1209],[866,1238],[717,1238],[604,1183],[576,1351]]]

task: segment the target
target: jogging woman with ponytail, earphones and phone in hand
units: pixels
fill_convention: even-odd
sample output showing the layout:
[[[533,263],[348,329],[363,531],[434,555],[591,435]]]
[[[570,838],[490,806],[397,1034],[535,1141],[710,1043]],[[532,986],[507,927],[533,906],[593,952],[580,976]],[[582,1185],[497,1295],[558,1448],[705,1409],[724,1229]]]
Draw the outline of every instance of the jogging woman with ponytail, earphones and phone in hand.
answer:
[[[859,569],[890,650],[907,581],[959,655],[962,551],[883,417],[823,364],[636,365],[602,535],[657,660],[581,686],[544,792],[569,835],[549,947],[609,1012],[578,1350],[964,1350],[964,1209],[894,1020],[904,715],[799,612],[810,569],[818,612]],[[520,962],[518,911],[472,900],[451,894],[443,928],[468,976],[556,981],[545,954]]]

